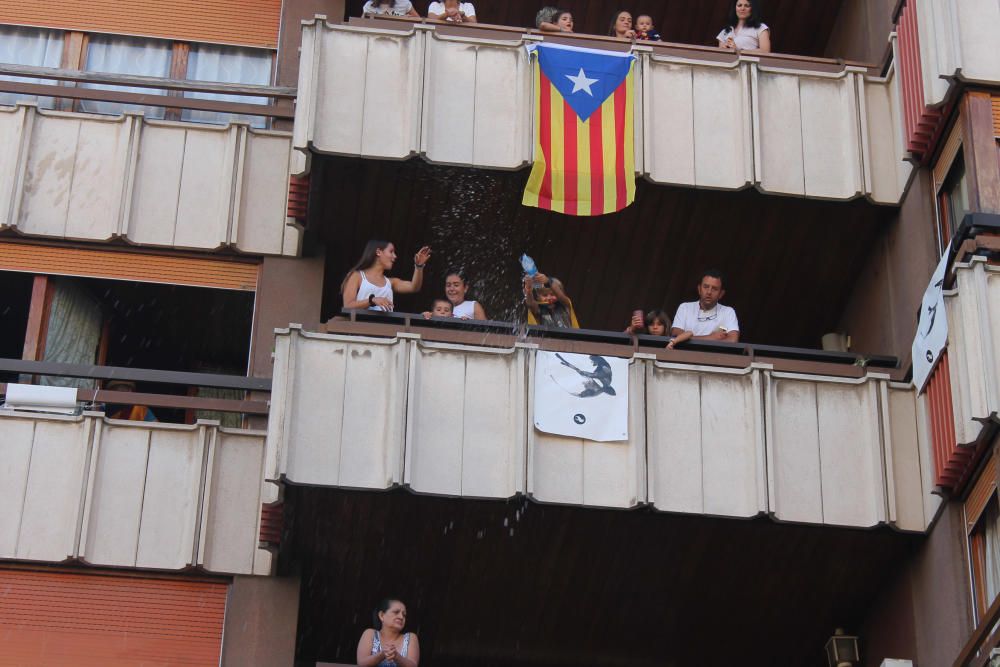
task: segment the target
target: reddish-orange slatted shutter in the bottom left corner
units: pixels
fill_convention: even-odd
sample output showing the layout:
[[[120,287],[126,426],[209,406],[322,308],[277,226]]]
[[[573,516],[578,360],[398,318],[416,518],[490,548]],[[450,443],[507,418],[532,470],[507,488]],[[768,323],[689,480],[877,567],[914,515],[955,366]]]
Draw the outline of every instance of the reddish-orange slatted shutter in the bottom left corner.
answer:
[[[0,569],[0,665],[218,665],[228,588]]]

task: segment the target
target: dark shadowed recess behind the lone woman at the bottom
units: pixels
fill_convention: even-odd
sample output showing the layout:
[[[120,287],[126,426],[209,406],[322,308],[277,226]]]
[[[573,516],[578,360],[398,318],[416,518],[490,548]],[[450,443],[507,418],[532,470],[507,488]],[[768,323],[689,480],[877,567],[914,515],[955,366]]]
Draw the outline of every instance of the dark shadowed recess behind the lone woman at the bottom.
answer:
[[[287,501],[303,664],[353,662],[384,595],[439,666],[823,664],[921,540],[405,491]]]

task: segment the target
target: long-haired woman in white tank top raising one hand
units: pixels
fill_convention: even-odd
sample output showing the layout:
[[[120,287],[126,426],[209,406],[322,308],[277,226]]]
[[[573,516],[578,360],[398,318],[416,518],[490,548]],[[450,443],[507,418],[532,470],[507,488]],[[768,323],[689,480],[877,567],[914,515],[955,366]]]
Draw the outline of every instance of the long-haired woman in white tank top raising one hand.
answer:
[[[393,295],[419,292],[424,283],[424,267],[431,249],[424,246],[413,256],[413,278],[401,280],[387,274],[396,263],[396,247],[389,241],[369,241],[361,259],[340,284],[344,308],[391,312]]]

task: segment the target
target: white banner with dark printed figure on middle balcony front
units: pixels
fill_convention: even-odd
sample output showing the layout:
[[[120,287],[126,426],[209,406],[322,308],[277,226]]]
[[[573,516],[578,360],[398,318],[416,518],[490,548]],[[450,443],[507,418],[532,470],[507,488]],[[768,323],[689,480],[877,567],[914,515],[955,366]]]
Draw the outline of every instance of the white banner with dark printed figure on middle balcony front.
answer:
[[[538,352],[535,428],[598,442],[628,440],[629,360]]]

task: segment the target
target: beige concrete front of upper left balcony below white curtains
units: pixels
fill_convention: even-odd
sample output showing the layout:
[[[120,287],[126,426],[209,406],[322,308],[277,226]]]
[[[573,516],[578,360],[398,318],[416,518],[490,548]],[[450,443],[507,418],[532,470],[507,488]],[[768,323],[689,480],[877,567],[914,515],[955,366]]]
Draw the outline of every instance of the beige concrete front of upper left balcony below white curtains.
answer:
[[[290,135],[245,125],[0,108],[0,229],[141,246],[295,255]]]

